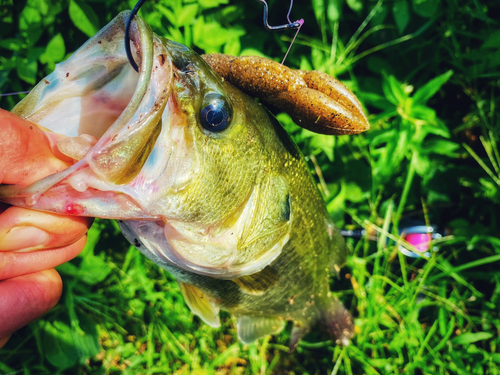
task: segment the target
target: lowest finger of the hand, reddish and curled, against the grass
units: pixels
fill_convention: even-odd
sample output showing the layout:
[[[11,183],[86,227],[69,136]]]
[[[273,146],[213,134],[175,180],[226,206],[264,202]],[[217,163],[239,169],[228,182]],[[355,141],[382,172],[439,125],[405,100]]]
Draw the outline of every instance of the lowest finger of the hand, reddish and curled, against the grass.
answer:
[[[0,283],[0,337],[24,327],[55,306],[62,281],[53,270],[15,277]]]

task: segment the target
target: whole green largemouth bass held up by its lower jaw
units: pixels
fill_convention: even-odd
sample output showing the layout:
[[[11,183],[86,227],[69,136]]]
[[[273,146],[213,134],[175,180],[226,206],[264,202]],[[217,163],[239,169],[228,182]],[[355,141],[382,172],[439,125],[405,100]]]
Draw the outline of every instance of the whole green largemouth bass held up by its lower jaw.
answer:
[[[75,164],[30,186],[2,186],[0,199],[118,219],[178,280],[195,314],[217,327],[219,310],[229,311],[243,342],[292,321],[292,347],[316,324],[347,344],[352,318],[330,293],[346,248],[298,148],[263,106],[139,17],[137,74],[124,51],[126,19],[13,109],[48,129]]]

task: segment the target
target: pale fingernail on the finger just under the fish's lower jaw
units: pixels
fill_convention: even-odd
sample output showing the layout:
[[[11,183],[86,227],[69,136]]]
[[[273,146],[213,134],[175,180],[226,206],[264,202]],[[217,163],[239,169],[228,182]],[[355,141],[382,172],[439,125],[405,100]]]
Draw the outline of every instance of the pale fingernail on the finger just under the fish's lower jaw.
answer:
[[[0,251],[29,251],[45,245],[49,235],[35,227],[16,227],[0,238]]]

